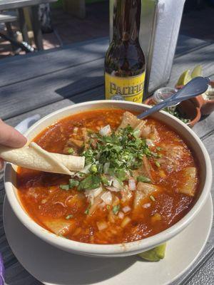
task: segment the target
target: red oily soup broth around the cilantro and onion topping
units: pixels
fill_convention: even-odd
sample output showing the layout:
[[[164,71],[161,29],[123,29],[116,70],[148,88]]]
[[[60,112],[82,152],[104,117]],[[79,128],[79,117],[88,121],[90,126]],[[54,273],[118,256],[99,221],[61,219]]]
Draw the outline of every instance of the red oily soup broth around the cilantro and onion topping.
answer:
[[[73,136],[78,138],[81,128],[98,132],[103,126],[110,125],[112,130],[116,130],[124,112],[121,109],[102,109],[71,115],[46,128],[34,138],[34,142],[49,152],[64,153],[68,139]],[[120,212],[124,208],[130,209],[119,214],[123,220],[128,217],[124,227],[122,219],[118,214],[113,214],[112,207],[107,205],[99,207],[91,215],[86,214],[88,200],[83,193],[76,188],[65,191],[59,187],[68,182],[68,175],[19,167],[16,184],[21,204],[29,216],[41,227],[56,234],[59,234],[61,228],[64,229],[59,235],[67,239],[93,244],[134,242],[158,234],[183,218],[197,197],[198,174],[195,195],[188,196],[178,191],[179,185],[185,183],[182,170],[184,167],[196,167],[198,170],[198,166],[192,152],[174,130],[158,120],[146,120],[158,132],[156,147],[167,145],[170,148],[170,145],[175,144],[183,148],[183,155],[177,161],[176,171],[169,173],[157,167],[151,159],[153,180],[161,191],[143,199],[137,211],[133,211],[133,197],[128,202],[122,202],[121,193],[113,193],[115,199],[120,201]],[[103,222],[108,224],[107,228],[102,229]]]

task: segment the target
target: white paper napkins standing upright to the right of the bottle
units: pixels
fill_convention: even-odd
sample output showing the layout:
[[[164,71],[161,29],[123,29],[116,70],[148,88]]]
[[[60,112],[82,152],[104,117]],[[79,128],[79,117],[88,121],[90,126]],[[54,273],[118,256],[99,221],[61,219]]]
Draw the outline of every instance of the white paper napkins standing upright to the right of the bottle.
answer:
[[[184,3],[185,0],[158,0],[149,92],[170,78]]]

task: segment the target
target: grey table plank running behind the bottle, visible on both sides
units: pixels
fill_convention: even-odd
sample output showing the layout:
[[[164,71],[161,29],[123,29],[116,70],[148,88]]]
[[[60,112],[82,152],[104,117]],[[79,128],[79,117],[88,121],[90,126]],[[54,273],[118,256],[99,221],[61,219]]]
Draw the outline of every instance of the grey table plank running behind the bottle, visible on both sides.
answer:
[[[210,44],[210,46],[175,58],[168,85],[175,85],[180,73],[199,63],[203,65],[205,76],[213,75],[213,50],[214,44]],[[101,85],[103,85],[103,58],[1,87],[0,117],[11,118],[42,105],[54,103],[63,98],[71,98],[77,93],[83,93],[83,91]],[[18,96],[19,100],[17,100]]]

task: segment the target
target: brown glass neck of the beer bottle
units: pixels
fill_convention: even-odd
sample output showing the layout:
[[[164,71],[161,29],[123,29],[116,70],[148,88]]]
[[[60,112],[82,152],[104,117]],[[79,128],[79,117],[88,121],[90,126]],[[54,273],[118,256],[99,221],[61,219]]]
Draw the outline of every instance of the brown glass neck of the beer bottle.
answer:
[[[138,42],[141,0],[114,0],[113,41]]]

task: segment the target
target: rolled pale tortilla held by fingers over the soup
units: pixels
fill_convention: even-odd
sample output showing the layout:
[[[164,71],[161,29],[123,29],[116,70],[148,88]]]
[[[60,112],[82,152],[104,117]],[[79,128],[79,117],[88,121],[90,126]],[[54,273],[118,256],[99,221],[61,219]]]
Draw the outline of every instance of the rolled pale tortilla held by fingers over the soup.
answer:
[[[83,170],[85,165],[85,157],[47,152],[35,142],[21,148],[1,146],[0,157],[21,167],[66,175]]]

